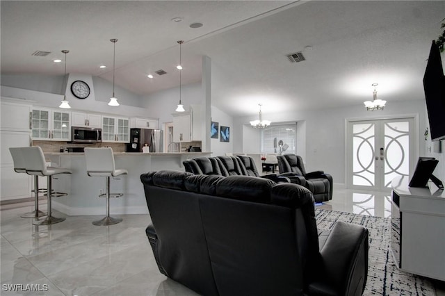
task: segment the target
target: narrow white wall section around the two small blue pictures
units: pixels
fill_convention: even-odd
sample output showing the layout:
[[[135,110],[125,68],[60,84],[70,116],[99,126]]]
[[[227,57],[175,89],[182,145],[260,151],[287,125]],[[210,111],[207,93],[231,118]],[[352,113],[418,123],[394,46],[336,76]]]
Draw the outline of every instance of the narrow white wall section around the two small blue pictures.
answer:
[[[230,128],[230,141],[229,142],[220,142],[221,135],[218,131],[218,139],[210,139],[210,151],[212,152],[212,156],[224,155],[226,152],[234,151],[234,142],[236,142],[236,135],[239,133],[238,129],[234,129],[233,118],[230,115],[227,115],[220,109],[212,106],[211,107],[211,121],[218,122],[219,126],[229,126]],[[210,138],[210,135],[206,135],[207,138]]]

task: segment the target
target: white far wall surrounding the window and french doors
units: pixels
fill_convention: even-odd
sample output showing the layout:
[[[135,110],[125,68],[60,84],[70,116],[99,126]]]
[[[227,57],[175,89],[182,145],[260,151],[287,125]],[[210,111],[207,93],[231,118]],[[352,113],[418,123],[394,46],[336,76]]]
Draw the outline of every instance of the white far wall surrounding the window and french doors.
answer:
[[[266,111],[266,110],[264,110]],[[324,170],[332,174],[335,183],[345,183],[345,120],[353,118],[373,119],[380,117],[391,117],[391,115],[419,115],[419,126],[417,128],[423,134],[426,128],[425,115],[426,105],[423,100],[410,100],[405,102],[391,102],[388,100],[385,110],[366,111],[362,104],[348,108],[333,108],[323,110],[306,110],[295,113],[270,114],[264,117],[272,122],[299,122],[305,124],[298,135],[305,132],[304,147],[297,150],[305,151],[305,165],[308,172]],[[257,119],[256,116],[241,117],[234,119],[235,131],[247,131],[242,135],[242,143],[259,142],[257,135],[252,135],[243,124]],[[298,124],[297,124],[298,126]],[[302,140],[298,137],[298,142]],[[420,155],[425,154],[425,146],[420,145]],[[300,143],[298,143],[300,144]],[[244,147],[236,145],[234,151],[244,151]],[[251,146],[248,149],[252,149]],[[259,149],[259,148],[258,148]],[[303,149],[303,150],[301,150]],[[298,152],[300,153],[300,152]]]

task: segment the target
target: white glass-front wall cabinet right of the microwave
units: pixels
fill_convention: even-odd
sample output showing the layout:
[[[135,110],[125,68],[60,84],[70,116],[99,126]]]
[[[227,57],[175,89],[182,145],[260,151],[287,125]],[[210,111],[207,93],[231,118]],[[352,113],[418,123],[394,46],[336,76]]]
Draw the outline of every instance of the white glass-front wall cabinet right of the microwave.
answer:
[[[129,119],[102,116],[102,142],[127,143],[130,139]]]

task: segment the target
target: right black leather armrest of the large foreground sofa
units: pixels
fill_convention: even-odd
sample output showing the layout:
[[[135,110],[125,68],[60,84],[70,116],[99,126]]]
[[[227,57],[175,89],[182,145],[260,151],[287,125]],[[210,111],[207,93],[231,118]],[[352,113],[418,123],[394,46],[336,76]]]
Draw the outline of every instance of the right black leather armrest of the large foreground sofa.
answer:
[[[368,229],[337,222],[321,249],[322,270],[309,295],[362,295],[368,276]]]

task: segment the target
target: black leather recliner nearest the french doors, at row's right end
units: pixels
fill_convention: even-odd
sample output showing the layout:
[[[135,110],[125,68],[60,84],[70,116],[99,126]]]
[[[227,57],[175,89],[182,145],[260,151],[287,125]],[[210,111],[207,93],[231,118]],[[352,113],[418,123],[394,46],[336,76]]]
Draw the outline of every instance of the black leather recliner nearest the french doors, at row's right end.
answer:
[[[332,199],[332,176],[323,171],[306,172],[301,156],[284,154],[277,156],[280,176],[287,176],[292,183],[308,188],[316,202]]]

